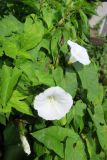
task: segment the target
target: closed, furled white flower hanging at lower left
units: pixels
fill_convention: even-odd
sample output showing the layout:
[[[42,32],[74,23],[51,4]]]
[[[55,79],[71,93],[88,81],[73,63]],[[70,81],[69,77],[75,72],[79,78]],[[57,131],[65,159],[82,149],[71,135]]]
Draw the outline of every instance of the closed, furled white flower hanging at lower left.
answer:
[[[27,138],[24,135],[20,135],[20,139],[21,139],[22,146],[23,146],[25,153],[27,153],[27,155],[30,155],[31,150],[30,150],[30,145],[27,141]]]

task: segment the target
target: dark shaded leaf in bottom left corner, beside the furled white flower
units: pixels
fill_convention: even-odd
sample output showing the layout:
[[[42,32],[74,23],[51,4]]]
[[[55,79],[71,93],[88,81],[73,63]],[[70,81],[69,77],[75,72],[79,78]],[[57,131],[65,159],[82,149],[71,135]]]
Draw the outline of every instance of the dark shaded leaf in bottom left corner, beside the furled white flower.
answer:
[[[8,123],[3,132],[4,137],[4,160],[18,160],[18,156],[22,159],[23,149],[20,145],[20,137],[18,128],[14,123]]]

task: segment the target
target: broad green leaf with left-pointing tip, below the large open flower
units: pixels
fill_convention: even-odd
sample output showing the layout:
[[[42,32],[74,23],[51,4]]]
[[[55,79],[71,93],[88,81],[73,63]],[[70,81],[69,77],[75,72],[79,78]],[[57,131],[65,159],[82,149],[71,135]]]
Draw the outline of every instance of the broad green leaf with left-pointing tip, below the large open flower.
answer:
[[[74,140],[78,139],[78,135],[73,131],[73,129],[62,128],[59,126],[52,126],[36,131],[32,133],[32,136],[62,158],[64,157],[64,154],[63,144],[61,141],[66,137],[71,137]]]

